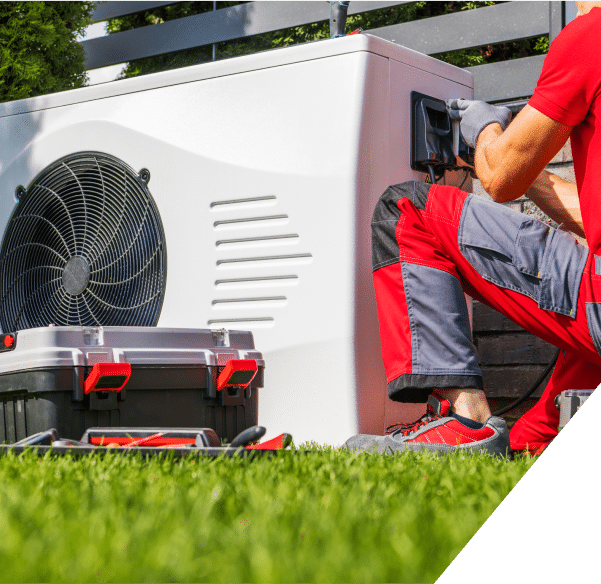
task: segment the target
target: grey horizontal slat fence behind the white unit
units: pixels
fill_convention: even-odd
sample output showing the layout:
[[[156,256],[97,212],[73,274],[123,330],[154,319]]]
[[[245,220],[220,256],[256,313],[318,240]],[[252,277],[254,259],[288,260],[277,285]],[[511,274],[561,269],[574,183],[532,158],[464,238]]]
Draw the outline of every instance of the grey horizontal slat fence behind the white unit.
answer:
[[[353,0],[349,14],[406,4],[408,1]],[[94,20],[99,22],[168,4],[174,2],[110,1],[98,5]],[[575,17],[573,4],[563,1],[517,0],[424,20],[391,24],[365,32],[421,53],[436,55],[544,35],[550,35],[552,39]],[[82,46],[87,55],[87,68],[95,69],[303,26],[328,18],[329,6],[323,0],[257,0],[82,41]],[[543,59],[543,56],[533,56],[468,67],[474,75],[475,97],[486,101],[511,101],[529,97],[540,74]]]

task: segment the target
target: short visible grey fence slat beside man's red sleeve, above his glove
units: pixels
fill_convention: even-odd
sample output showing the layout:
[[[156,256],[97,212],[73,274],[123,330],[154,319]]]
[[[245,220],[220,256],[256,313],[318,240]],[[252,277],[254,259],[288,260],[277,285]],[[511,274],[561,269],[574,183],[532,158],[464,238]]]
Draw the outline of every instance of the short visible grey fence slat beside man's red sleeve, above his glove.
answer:
[[[466,67],[474,76],[474,99],[492,102],[531,96],[544,60],[544,55],[537,55]]]

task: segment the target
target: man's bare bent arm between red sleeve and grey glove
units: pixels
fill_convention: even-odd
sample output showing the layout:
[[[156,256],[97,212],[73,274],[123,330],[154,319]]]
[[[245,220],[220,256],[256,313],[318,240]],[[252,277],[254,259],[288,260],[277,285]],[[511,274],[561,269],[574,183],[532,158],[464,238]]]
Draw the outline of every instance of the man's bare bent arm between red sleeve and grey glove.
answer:
[[[484,190],[500,203],[521,197],[559,152],[571,131],[571,126],[528,105],[504,132],[499,124],[486,126],[478,136],[475,161]]]

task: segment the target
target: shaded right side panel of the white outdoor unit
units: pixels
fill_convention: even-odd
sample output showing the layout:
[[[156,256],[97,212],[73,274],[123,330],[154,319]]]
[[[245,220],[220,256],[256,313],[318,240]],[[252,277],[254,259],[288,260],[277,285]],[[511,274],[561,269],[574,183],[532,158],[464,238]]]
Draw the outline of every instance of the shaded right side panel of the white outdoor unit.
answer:
[[[434,72],[437,64],[434,60],[429,60],[426,64],[432,65],[433,71],[390,59],[386,62],[389,67],[386,83],[382,84],[379,80],[372,79],[366,84],[369,88],[367,93],[373,96],[373,102],[372,107],[365,110],[360,140],[360,195],[357,200],[356,217],[357,328],[354,336],[358,431],[362,433],[383,433],[389,423],[385,420],[386,416],[399,410],[399,406],[388,399],[382,363],[373,293],[370,220],[380,195],[389,185],[405,180],[424,179],[424,175],[410,168],[410,94],[411,91],[420,91],[442,99],[472,96],[470,88],[437,75]],[[421,65],[424,63],[421,62]],[[373,66],[370,69],[371,72],[375,70]],[[382,107],[382,104],[389,106]],[[464,178],[462,173],[459,174],[459,178]]]

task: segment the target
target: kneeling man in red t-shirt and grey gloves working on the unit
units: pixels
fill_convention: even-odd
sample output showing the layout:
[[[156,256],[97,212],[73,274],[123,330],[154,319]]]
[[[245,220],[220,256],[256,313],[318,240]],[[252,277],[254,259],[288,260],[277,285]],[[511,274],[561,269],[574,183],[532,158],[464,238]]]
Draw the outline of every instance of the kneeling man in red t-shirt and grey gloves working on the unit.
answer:
[[[507,108],[467,100],[447,108],[476,147],[476,172],[494,201],[526,193],[588,248],[454,187],[390,187],[372,222],[388,390],[396,401],[427,397],[428,406],[417,422],[355,436],[349,448],[503,454],[510,439],[514,450],[540,453],[557,435],[555,396],[601,382],[601,2],[576,5],[579,17],[552,43],[511,125]],[[576,185],[544,170],[568,137]],[[543,396],[510,435],[482,391],[464,291],[562,349]]]

